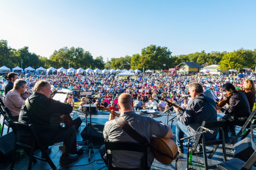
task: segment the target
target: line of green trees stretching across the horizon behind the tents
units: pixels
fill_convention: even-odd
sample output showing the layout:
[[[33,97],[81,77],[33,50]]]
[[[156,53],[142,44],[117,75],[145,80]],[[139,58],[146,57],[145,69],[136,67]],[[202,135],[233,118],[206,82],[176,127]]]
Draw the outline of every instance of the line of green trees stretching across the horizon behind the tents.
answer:
[[[74,69],[126,69],[126,70],[168,70],[175,65],[180,64],[183,61],[197,62],[199,64],[208,63],[220,64],[221,70],[230,69],[242,69],[252,68],[254,69],[256,64],[256,49],[245,50],[239,49],[233,52],[218,52],[212,51],[206,53],[203,51],[195,52],[186,55],[171,55],[172,52],[167,47],[161,47],[156,45],[150,45],[141,50],[139,54],[133,54],[132,56],[124,56],[119,58],[111,58],[109,61],[104,62],[102,56],[93,58],[89,51],[85,51],[80,47],[63,47],[49,57],[42,57],[35,53],[29,52],[29,47],[23,47],[21,49],[13,49],[8,46],[6,40],[0,41],[0,66],[6,65],[13,68],[15,66],[21,66],[26,68],[32,66],[34,69],[43,66],[49,68],[51,66],[56,69],[60,67],[68,68],[68,66]]]

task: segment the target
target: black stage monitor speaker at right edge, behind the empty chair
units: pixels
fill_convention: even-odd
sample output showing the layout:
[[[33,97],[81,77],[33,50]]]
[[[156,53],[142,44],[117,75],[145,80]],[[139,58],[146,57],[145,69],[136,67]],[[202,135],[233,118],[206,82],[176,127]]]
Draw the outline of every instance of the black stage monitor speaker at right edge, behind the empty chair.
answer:
[[[244,140],[238,142],[234,146],[234,157],[239,158],[243,161],[247,161],[250,156],[256,151],[256,146],[251,138],[245,138]],[[255,166],[256,164],[254,164]]]

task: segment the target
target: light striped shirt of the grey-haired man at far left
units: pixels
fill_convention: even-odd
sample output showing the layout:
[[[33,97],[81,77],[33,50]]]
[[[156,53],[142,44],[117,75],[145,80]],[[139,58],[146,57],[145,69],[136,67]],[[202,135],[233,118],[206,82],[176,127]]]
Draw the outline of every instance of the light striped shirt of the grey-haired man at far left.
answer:
[[[10,90],[5,96],[5,106],[10,110],[12,116],[19,116],[23,103],[23,98],[15,89]]]

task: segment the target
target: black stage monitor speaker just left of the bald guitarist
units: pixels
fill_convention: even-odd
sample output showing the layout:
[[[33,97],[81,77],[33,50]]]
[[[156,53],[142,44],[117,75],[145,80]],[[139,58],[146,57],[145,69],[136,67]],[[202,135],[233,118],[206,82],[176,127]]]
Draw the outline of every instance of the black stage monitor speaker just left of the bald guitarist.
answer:
[[[103,145],[105,143],[103,129],[103,124],[92,124],[92,142],[94,144]],[[81,132],[81,137],[83,138],[83,140],[90,140],[90,123],[88,123],[88,127],[86,126]]]

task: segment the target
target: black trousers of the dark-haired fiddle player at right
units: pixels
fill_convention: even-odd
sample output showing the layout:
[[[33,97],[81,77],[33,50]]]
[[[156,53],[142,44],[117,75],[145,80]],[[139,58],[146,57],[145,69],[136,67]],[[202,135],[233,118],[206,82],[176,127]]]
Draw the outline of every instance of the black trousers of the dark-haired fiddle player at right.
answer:
[[[236,117],[231,115],[225,115],[219,118],[219,121],[226,121],[228,124],[228,128],[224,129],[224,137],[226,142],[229,142],[228,129],[231,131],[232,136],[236,136],[235,125],[243,126],[246,120],[247,117]],[[221,129],[219,130],[219,139],[222,139]]]

